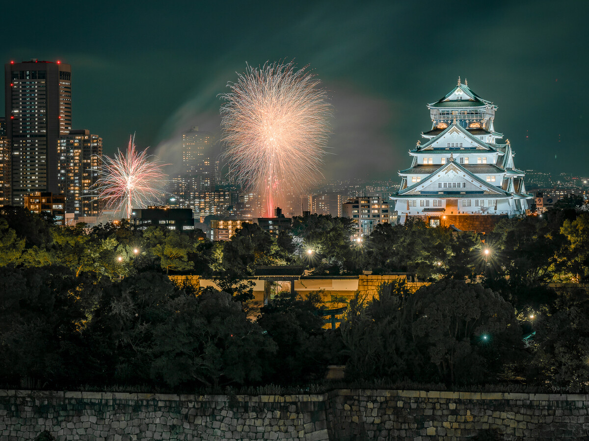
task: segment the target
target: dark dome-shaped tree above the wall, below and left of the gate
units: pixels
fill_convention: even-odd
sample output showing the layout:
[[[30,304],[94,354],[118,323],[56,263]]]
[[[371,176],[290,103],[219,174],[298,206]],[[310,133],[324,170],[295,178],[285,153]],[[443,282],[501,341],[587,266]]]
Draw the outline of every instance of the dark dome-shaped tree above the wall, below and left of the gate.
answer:
[[[258,383],[276,346],[224,292],[180,295],[176,313],[154,329],[151,376],[170,386]]]

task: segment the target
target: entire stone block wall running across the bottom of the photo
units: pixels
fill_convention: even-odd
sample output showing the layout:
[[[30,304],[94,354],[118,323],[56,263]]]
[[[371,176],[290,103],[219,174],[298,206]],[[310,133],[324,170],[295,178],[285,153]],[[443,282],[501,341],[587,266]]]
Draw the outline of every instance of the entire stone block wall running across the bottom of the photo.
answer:
[[[339,389],[227,396],[0,390],[0,439],[587,439],[588,395]]]

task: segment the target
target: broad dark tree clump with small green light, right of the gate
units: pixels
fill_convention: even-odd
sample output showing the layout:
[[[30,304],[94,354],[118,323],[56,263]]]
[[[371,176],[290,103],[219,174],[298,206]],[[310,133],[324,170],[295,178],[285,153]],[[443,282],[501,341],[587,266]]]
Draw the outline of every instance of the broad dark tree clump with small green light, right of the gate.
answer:
[[[409,293],[385,286],[365,306],[356,300],[342,324],[346,376],[447,383],[488,382],[520,355],[514,311],[480,285],[444,279]]]

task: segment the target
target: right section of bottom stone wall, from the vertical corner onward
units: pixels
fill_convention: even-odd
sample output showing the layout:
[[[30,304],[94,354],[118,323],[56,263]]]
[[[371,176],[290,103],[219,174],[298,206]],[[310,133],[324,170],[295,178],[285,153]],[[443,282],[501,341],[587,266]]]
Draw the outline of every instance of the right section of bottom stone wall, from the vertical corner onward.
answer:
[[[349,390],[326,400],[330,439],[588,439],[588,395]]]

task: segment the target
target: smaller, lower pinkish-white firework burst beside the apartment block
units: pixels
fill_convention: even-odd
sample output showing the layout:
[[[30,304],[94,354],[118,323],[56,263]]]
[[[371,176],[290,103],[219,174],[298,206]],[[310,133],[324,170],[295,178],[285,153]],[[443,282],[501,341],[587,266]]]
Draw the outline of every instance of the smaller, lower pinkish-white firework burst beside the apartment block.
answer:
[[[108,209],[123,212],[131,217],[131,206],[143,208],[149,203],[158,203],[163,193],[166,175],[161,165],[150,162],[147,149],[135,151],[135,137],[129,138],[127,153],[120,150],[114,158],[102,156],[100,178],[93,186],[97,199],[105,202]]]

